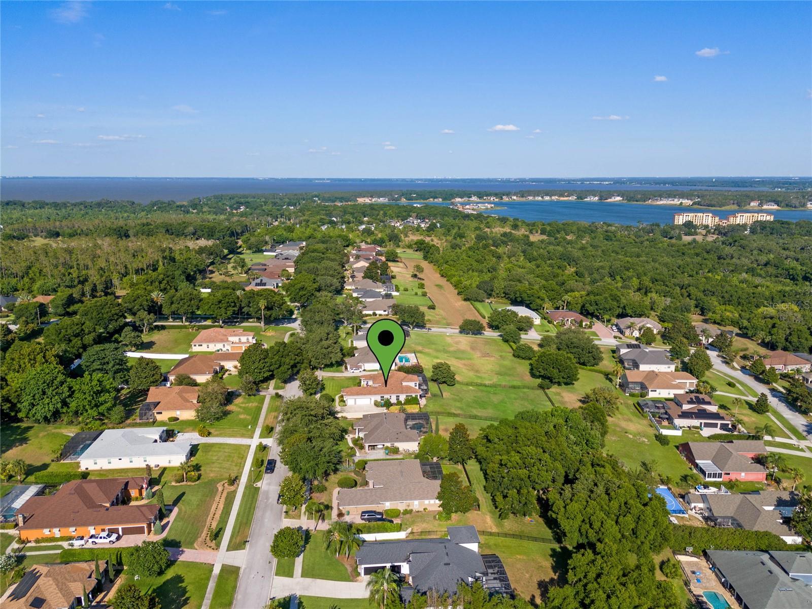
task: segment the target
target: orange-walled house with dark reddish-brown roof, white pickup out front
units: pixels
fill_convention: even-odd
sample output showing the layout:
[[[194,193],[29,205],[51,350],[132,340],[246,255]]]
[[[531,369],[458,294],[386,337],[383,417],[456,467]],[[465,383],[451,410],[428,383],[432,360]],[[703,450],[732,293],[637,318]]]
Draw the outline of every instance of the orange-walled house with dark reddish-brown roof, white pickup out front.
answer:
[[[158,505],[126,505],[142,499],[145,477],[71,480],[54,495],[28,499],[17,510],[20,539],[84,535],[110,531],[119,535],[149,535],[158,518]]]

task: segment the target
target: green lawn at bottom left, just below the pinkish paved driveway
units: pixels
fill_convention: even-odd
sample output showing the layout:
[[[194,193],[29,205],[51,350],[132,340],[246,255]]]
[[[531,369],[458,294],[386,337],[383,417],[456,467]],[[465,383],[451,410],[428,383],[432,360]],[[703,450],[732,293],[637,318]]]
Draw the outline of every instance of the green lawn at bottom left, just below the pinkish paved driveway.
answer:
[[[158,577],[141,577],[136,580],[127,574],[127,569],[124,569],[122,577],[124,583],[135,584],[140,590],[156,594],[161,609],[199,609],[203,604],[212,570],[210,564],[176,560]]]

